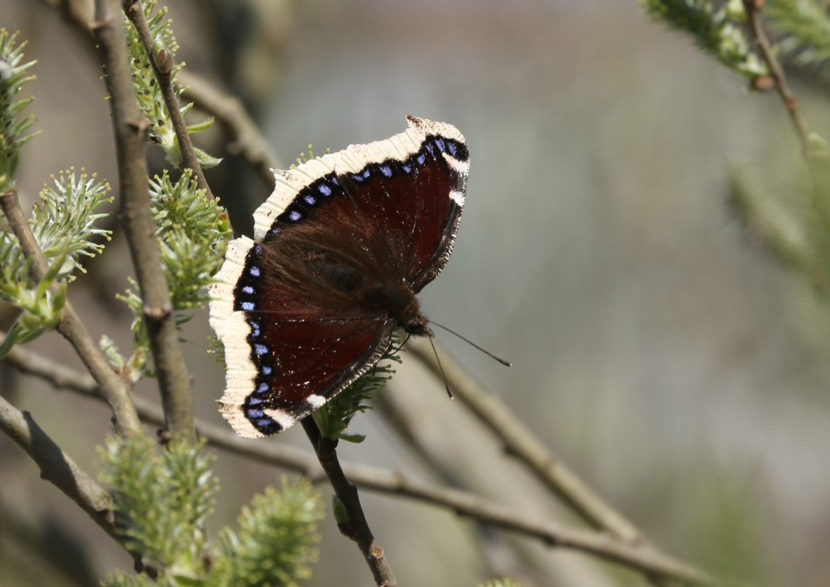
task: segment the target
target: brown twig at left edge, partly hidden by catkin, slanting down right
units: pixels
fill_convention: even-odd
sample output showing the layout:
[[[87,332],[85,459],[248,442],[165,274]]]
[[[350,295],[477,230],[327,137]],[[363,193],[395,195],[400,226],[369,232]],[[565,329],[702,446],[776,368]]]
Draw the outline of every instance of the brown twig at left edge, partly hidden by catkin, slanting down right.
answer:
[[[8,226],[17,236],[22,251],[32,261],[30,273],[32,279],[41,281],[49,267],[40,246],[37,245],[32,228],[20,207],[17,192],[12,190],[0,195],[0,207],[6,216]],[[141,433],[139,416],[129,398],[129,386],[113,371],[110,363],[92,340],[90,332],[86,330],[75,308],[68,301],[61,310],[61,318],[57,324],[57,331],[70,342],[78,357],[84,361],[95,382],[100,386],[101,394],[112,408],[115,415],[115,424],[122,434],[132,435]]]

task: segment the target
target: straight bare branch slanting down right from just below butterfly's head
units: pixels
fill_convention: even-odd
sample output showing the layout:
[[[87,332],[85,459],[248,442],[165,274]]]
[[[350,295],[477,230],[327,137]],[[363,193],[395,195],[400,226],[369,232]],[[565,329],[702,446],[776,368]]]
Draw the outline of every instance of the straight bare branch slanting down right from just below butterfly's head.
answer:
[[[408,349],[438,373],[437,361],[425,344],[413,340]],[[495,395],[482,390],[476,381],[447,352],[442,352],[447,383],[464,405],[500,439],[508,454],[525,463],[548,488],[568,503],[583,519],[596,528],[630,544],[642,544],[642,534],[622,514],[613,509],[559,458],[550,453],[540,439],[530,433],[506,405]]]

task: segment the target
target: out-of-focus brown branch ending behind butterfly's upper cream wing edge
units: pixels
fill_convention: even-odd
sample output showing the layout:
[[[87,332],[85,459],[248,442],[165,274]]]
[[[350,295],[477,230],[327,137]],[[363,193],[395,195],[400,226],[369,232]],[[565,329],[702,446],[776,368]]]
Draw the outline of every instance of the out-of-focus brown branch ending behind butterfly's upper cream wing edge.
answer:
[[[251,119],[242,100],[237,96],[222,92],[217,86],[188,70],[178,72],[178,80],[184,87],[183,97],[192,101],[198,108],[212,115],[225,129],[232,142],[227,150],[239,154],[248,165],[253,167],[256,175],[271,189],[274,187],[274,172],[284,166],[274,154],[271,144],[262,135],[259,127]]]

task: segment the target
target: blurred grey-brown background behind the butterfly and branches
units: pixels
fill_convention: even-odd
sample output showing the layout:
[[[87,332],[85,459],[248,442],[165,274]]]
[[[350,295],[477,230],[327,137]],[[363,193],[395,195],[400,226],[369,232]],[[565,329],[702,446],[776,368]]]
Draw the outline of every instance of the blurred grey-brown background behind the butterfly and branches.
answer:
[[[61,2],[56,2],[61,3]],[[706,59],[636,2],[524,0],[171,0],[178,57],[245,100],[282,163],[386,138],[404,114],[443,120],[471,152],[455,252],[421,295],[463,342],[441,344],[600,495],[666,552],[759,585],[830,585],[827,306],[726,205],[730,172],[798,153],[774,95]],[[85,2],[77,7],[83,12]],[[49,2],[0,0],[39,60],[23,151],[31,204],[49,175],[85,167],[117,182],[109,108],[92,44]],[[826,88],[793,80],[815,129]],[[825,133],[827,136],[827,133]],[[225,156],[207,173],[251,234],[264,185],[220,129],[197,138]],[[150,148],[154,168],[164,161]],[[115,300],[129,262],[118,232],[70,298],[95,337],[128,349]],[[13,314],[4,315],[8,327]],[[198,415],[215,423],[222,371],[207,313],[185,331]],[[80,366],[56,335],[32,350]],[[30,410],[86,470],[109,429],[104,405],[0,364],[0,392]],[[152,382],[137,393],[154,398]],[[452,482],[522,512],[577,524],[503,454],[442,383],[405,360],[384,395],[405,406]],[[378,412],[344,458],[436,478]],[[263,442],[306,446],[300,429]],[[427,451],[427,452],[429,452]],[[218,453],[212,531],[281,472]],[[131,560],[37,467],[0,438],[0,585],[95,585]],[[329,491],[323,488],[325,502]],[[402,585],[642,585],[579,553],[482,529],[434,507],[363,494]],[[364,561],[327,517],[308,585],[367,585]]]

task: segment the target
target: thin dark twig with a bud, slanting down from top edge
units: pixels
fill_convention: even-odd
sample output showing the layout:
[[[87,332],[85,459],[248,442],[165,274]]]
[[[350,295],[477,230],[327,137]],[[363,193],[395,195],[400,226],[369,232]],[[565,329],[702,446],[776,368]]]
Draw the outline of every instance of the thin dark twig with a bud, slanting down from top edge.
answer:
[[[162,91],[164,104],[167,105],[170,120],[173,122],[173,130],[178,140],[178,148],[182,153],[182,161],[185,167],[193,172],[193,177],[196,177],[199,189],[204,190],[207,197],[212,198],[213,193],[210,191],[210,186],[207,185],[202,166],[199,165],[196,150],[193,148],[193,141],[190,140],[188,125],[185,124],[182,111],[179,109],[176,88],[173,87],[173,56],[166,48],[159,49],[158,52],[155,51],[153,36],[147,25],[147,19],[144,18],[144,8],[141,6],[140,0],[123,0],[123,4],[124,12],[129,18],[129,22],[132,22],[135,30],[139,32],[144,51],[147,51],[149,61],[153,64],[156,80],[159,81],[159,90]]]

